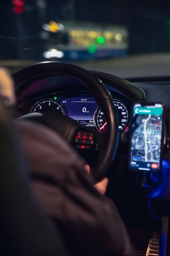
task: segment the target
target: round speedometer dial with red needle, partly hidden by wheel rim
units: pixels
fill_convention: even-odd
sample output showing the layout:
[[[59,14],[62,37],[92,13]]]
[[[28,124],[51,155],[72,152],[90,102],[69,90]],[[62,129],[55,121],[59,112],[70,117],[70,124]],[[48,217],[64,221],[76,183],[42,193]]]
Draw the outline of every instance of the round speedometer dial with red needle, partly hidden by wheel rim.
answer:
[[[118,99],[113,99],[113,104],[118,114],[118,119],[119,119],[118,129],[126,132],[127,124],[129,120],[128,109],[126,105],[122,101],[119,101]],[[97,128],[97,130],[99,130],[99,132],[105,132],[107,130],[106,116],[100,107],[98,107],[95,111],[94,123],[95,123],[95,127]]]

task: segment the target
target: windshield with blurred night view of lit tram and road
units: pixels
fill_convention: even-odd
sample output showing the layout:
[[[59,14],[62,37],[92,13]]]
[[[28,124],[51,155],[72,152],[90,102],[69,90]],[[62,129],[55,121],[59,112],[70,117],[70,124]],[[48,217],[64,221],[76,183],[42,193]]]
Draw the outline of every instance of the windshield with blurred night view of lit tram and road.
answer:
[[[0,60],[11,72],[55,60],[121,77],[169,74],[168,0],[1,2]]]

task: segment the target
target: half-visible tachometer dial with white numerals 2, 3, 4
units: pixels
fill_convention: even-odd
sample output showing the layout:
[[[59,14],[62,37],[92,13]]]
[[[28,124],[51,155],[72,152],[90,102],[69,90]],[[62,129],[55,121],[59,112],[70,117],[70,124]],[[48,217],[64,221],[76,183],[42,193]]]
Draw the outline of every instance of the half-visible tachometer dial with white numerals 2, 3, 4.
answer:
[[[42,99],[36,102],[31,108],[30,113],[35,112],[58,112],[64,115],[64,108],[60,102],[54,99]]]

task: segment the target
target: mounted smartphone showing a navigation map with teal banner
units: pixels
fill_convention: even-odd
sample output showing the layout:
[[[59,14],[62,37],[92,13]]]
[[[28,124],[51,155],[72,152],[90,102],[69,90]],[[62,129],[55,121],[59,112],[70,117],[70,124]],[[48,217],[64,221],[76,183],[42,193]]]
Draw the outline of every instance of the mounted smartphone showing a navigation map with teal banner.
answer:
[[[165,125],[162,103],[135,102],[130,129],[129,168],[132,171],[161,170]]]

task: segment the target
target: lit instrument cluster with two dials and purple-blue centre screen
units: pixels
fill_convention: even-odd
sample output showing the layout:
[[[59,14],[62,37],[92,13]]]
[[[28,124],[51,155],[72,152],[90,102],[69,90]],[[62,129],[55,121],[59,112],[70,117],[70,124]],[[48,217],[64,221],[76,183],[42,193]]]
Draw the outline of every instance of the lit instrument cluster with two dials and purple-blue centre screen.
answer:
[[[129,107],[119,99],[113,99],[113,104],[119,117],[119,131],[127,132],[130,121]],[[99,132],[107,130],[106,116],[93,97],[41,99],[32,106],[30,112],[59,112],[61,115],[77,120],[83,126],[95,127]]]

